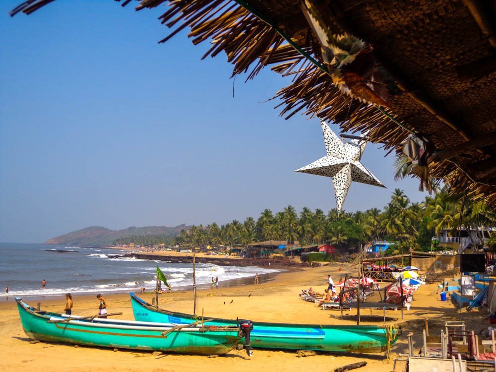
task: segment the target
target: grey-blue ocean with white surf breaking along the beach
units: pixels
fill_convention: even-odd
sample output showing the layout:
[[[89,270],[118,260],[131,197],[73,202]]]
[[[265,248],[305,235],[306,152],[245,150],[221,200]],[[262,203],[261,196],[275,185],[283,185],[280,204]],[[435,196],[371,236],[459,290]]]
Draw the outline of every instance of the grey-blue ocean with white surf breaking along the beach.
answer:
[[[67,252],[57,252],[66,250]],[[128,250],[51,246],[44,244],[0,243],[0,297],[40,297],[65,293],[139,292],[155,289],[157,266],[173,290],[193,284],[193,265],[124,255]],[[233,281],[280,270],[253,266],[218,266],[196,264],[199,287],[219,277],[221,287]],[[45,289],[41,282],[47,281]],[[4,288],[8,286],[8,295]],[[163,286],[165,287],[165,286]]]

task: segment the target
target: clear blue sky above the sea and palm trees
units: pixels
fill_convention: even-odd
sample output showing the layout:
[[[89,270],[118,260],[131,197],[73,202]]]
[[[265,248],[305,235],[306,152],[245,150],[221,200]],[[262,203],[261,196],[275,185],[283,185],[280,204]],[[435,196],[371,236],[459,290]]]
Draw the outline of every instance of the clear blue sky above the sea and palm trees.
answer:
[[[0,2],[0,241],[335,207],[330,179],[293,172],[325,155],[318,120],[261,103],[278,74],[238,76],[233,98],[225,55],[201,61],[208,43],[186,32],[157,44],[165,7],[58,0],[10,18],[19,2]],[[388,188],[353,183],[345,210],[382,208],[395,187],[425,197],[384,155],[369,144],[362,162]]]

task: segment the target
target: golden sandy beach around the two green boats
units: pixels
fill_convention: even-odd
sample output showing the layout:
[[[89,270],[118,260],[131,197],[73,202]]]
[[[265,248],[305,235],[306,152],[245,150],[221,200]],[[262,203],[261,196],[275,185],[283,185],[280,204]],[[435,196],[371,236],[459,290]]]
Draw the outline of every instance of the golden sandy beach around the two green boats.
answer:
[[[338,272],[339,267],[342,271]],[[320,324],[355,324],[355,318],[341,320],[337,310],[320,310],[315,304],[301,301],[298,294],[303,288],[312,286],[319,292],[326,288],[325,279],[329,273],[335,280],[345,273],[352,273],[353,268],[338,263],[329,266],[303,268],[298,271],[283,272],[274,280],[259,285],[245,284],[237,287],[204,289],[198,291],[198,309],[204,310],[205,316],[214,315],[224,318],[248,318],[259,321],[320,323]],[[250,297],[248,295],[251,294]],[[152,294],[141,295],[151,302]],[[132,319],[132,310],[127,294],[107,294],[110,312],[122,311],[118,318]],[[76,295],[73,297],[73,314],[93,315],[97,312],[97,299],[94,295]],[[234,300],[234,301],[232,301]],[[232,304],[230,302],[232,301]],[[30,303],[29,299],[26,302]],[[31,301],[36,306],[38,300]],[[224,305],[224,302],[226,305]],[[46,298],[41,300],[44,310],[63,310],[64,299]],[[171,292],[160,295],[160,306],[183,312],[192,312],[191,291]],[[381,310],[372,310],[372,314],[381,315]],[[450,302],[441,302],[434,284],[422,286],[415,294],[415,301],[410,311],[388,310],[387,315],[396,320],[389,324],[401,324],[403,335],[392,349],[391,361],[382,354],[330,354],[325,353],[307,358],[297,358],[294,351],[255,350],[252,358],[244,351],[231,351],[225,357],[207,358],[202,356],[163,354],[154,356],[151,352],[125,351],[113,349],[74,347],[52,343],[30,343],[19,320],[13,298],[0,303],[1,327],[3,340],[0,349],[0,365],[4,372],[18,371],[331,371],[349,363],[365,360],[368,365],[361,371],[392,371],[392,358],[397,353],[406,351],[406,334],[415,332],[415,348],[421,344],[419,331],[424,326],[424,317],[429,317],[430,333],[440,330],[445,320],[458,319],[460,316],[468,323],[474,320],[476,331],[485,327],[477,312],[459,314]],[[355,315],[353,310],[351,315]],[[364,310],[362,315],[370,314]],[[380,317],[374,322],[364,324],[384,324]],[[478,328],[477,328],[478,327]]]

